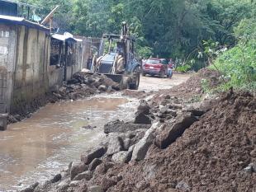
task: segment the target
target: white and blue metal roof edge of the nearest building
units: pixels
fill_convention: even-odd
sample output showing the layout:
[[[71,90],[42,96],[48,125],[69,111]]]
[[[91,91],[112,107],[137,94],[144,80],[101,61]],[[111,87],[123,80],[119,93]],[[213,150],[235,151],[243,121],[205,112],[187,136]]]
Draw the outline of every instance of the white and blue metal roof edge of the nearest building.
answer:
[[[20,25],[20,26],[28,26],[28,27],[35,28],[38,30],[45,30],[50,33],[49,28],[46,28],[45,26],[41,26],[40,24],[37,24],[35,22],[28,21],[22,17],[0,15],[0,24],[1,23],[9,23],[9,24]]]

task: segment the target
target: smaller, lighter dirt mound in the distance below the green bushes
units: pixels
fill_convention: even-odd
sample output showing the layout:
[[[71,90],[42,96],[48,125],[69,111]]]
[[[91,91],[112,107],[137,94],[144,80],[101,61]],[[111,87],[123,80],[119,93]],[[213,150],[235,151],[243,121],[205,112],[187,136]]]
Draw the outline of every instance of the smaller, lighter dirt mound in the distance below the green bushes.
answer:
[[[205,81],[206,86],[216,87],[220,84],[220,73],[209,68],[202,68],[198,73],[192,75],[187,82],[183,82],[177,87],[168,92],[173,96],[183,98],[192,98],[193,96],[201,96],[204,93],[202,81]]]

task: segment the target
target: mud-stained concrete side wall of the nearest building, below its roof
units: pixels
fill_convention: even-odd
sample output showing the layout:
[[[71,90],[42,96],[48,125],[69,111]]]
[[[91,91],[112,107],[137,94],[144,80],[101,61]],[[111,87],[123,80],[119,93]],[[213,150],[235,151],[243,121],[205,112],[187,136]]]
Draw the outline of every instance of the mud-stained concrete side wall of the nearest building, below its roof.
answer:
[[[11,112],[35,103],[49,90],[50,35],[17,26],[17,53]]]

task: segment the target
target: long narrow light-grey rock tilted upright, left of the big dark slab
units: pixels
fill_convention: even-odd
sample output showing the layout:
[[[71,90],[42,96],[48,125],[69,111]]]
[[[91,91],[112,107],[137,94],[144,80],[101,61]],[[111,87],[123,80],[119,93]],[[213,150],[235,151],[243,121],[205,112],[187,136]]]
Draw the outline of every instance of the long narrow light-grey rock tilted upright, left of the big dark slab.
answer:
[[[131,160],[140,161],[143,160],[149,150],[150,145],[154,141],[154,131],[159,127],[159,123],[153,124],[149,130],[145,133],[139,143],[135,144],[135,148],[132,152]]]

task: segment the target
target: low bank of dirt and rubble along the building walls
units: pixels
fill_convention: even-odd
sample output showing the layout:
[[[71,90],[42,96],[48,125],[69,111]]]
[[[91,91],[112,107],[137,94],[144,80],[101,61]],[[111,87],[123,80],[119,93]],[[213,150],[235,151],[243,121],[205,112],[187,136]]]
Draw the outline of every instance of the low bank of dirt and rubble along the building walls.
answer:
[[[47,103],[57,101],[78,100],[93,96],[102,92],[119,90],[119,85],[110,78],[100,74],[75,73],[70,81],[65,83],[56,91],[51,91],[33,101],[30,105],[20,105],[16,111],[9,116],[9,123],[16,123],[21,119],[30,117],[33,112]]]

